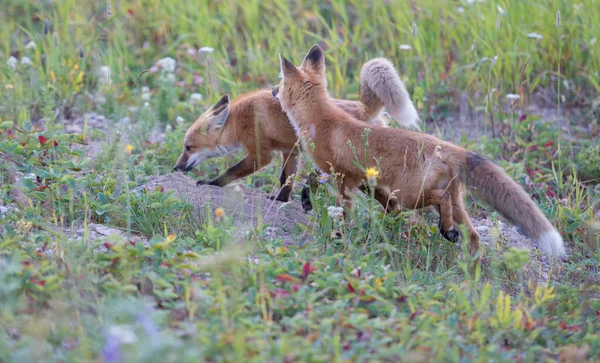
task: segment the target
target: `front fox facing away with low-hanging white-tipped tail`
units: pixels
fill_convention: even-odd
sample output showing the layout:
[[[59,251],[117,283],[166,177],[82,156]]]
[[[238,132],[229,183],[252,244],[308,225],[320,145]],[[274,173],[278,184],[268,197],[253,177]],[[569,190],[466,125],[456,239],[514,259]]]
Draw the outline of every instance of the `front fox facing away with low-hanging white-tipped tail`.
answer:
[[[536,239],[546,253],[566,257],[560,234],[500,167],[428,134],[365,125],[332,102],[324,64],[323,50],[318,45],[310,49],[300,67],[280,55],[283,77],[272,93],[298,137],[310,139],[314,147],[309,152],[317,166],[321,170],[331,166],[343,176],[340,201],[351,206],[349,191],[365,185],[365,171],[357,162],[364,168],[377,168],[381,173],[377,180],[379,192],[387,194],[388,199],[393,196],[395,208],[435,207],[440,214],[441,234],[453,242],[460,239],[455,227],[466,225],[470,253],[475,255],[480,247],[479,235],[463,205],[466,185]],[[368,148],[363,141],[366,129]]]

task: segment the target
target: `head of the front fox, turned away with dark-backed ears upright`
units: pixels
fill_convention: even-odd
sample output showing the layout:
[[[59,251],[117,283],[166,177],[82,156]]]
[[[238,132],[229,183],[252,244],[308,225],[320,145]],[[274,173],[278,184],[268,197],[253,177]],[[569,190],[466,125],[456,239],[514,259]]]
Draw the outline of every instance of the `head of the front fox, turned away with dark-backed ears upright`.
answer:
[[[273,97],[281,103],[284,111],[290,111],[297,104],[310,104],[310,99],[327,97],[325,79],[325,54],[315,44],[310,48],[300,67],[279,54],[281,82],[273,87]]]

